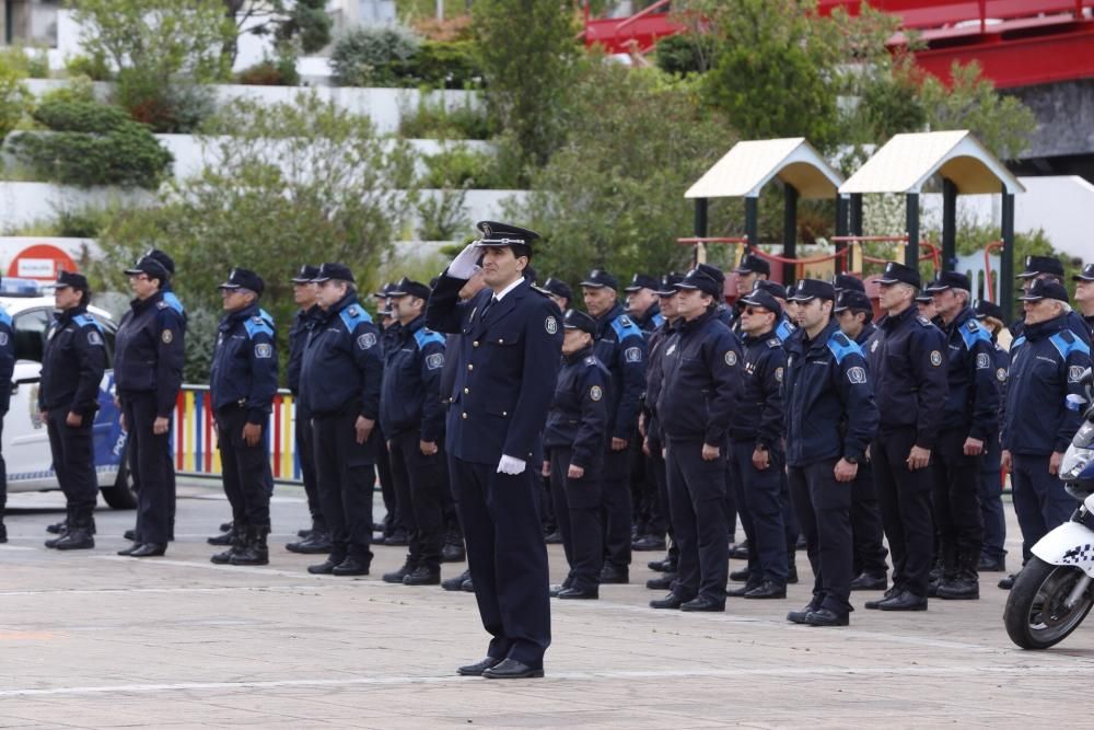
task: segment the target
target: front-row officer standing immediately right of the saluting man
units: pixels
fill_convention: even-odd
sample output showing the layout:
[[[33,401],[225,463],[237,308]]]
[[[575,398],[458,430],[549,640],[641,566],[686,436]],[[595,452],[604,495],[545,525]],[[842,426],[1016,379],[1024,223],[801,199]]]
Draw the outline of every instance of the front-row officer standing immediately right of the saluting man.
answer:
[[[570,570],[551,594],[596,599],[604,563],[600,491],[612,378],[593,354],[596,321],[569,310],[562,327],[562,368],[544,429],[544,471],[551,479]]]

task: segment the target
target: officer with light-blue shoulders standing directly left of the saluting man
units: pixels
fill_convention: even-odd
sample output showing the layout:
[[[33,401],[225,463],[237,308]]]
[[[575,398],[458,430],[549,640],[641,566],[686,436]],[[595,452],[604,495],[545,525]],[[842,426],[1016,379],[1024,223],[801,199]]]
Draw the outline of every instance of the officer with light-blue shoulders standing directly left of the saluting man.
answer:
[[[439,386],[444,369],[444,337],[426,327],[430,289],[406,277],[391,291],[399,322],[398,340],[387,350],[380,422],[387,438],[396,501],[403,509],[410,549],[401,568],[384,576],[388,583],[435,586],[441,582],[444,545],[444,407]]]

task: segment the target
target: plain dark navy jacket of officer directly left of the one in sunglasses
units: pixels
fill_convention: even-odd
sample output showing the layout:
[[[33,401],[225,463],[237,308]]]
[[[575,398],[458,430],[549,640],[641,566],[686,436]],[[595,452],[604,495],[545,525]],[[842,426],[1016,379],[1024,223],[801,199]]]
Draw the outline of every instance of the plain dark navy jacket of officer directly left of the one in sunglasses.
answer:
[[[741,387],[741,343],[709,310],[680,321],[665,344],[657,418],[666,441],[721,447]]]

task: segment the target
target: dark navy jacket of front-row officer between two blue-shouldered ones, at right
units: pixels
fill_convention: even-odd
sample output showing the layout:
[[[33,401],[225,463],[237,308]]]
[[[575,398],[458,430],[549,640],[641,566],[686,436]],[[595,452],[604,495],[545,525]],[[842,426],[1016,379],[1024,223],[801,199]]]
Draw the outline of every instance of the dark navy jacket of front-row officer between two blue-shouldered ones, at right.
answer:
[[[942,331],[915,306],[885,316],[870,341],[877,430],[916,429],[916,445],[934,448],[945,412],[946,347]]]

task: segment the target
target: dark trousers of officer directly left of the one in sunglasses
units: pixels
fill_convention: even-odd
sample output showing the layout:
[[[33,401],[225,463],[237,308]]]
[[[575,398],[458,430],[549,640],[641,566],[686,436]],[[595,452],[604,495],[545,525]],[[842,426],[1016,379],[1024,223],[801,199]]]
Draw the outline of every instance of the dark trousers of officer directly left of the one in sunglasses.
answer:
[[[703,461],[701,441],[670,441],[665,454],[673,530],[679,567],[673,592],[689,601],[697,595],[725,601],[730,549],[725,530],[725,449]]]

